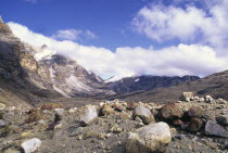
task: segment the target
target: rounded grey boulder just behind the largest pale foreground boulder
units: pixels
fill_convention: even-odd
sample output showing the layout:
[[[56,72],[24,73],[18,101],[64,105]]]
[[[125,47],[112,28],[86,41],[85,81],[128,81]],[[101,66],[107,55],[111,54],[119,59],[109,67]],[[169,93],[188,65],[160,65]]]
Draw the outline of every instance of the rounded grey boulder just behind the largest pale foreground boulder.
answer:
[[[143,124],[149,125],[151,123],[154,123],[154,117],[151,111],[142,105],[137,106],[134,110],[134,118],[137,116],[142,120]]]

